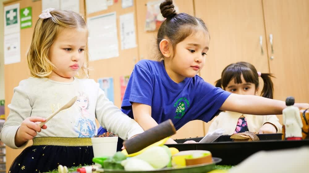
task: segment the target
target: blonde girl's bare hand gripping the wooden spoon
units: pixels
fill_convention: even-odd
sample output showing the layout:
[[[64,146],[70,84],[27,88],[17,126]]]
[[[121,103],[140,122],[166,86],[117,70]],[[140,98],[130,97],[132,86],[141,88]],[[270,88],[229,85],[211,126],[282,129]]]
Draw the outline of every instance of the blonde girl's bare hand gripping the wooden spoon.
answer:
[[[45,121],[46,119],[40,117],[29,117],[23,120],[23,123],[21,123],[15,135],[15,145],[17,147],[22,146],[28,140],[33,139],[41,129],[46,129],[47,126],[45,124],[40,127],[39,124],[36,123]]]

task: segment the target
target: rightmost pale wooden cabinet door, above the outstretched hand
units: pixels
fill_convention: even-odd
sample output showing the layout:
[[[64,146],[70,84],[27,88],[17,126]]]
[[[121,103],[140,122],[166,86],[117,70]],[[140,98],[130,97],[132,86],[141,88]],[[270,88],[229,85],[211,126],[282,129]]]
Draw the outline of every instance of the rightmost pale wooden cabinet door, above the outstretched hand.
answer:
[[[309,1],[263,0],[263,9],[274,97],[309,103]]]

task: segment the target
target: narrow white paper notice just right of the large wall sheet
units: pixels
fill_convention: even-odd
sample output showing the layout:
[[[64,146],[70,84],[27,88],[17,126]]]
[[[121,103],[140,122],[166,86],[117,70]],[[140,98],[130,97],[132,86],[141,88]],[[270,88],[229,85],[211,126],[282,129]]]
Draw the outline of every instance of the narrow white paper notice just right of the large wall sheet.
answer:
[[[119,16],[121,49],[130,49],[136,47],[136,35],[134,27],[134,14],[128,13]]]

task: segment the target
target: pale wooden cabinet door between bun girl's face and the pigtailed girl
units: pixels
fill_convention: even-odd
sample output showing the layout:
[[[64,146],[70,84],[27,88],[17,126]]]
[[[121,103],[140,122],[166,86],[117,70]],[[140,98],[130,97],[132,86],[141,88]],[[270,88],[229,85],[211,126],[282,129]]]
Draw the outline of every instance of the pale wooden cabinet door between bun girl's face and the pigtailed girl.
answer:
[[[203,19],[210,32],[209,51],[201,70],[205,81],[214,84],[227,65],[239,61],[269,72],[260,0],[195,0],[194,7],[196,17]]]

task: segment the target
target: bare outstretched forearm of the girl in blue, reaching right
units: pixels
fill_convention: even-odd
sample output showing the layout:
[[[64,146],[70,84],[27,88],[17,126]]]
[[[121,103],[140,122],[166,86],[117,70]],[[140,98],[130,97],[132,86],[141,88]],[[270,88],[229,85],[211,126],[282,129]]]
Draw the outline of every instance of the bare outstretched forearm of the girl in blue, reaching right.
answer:
[[[309,107],[308,103],[295,103],[295,107]],[[233,111],[251,115],[281,115],[286,103],[256,95],[231,94],[220,107],[222,111]]]

